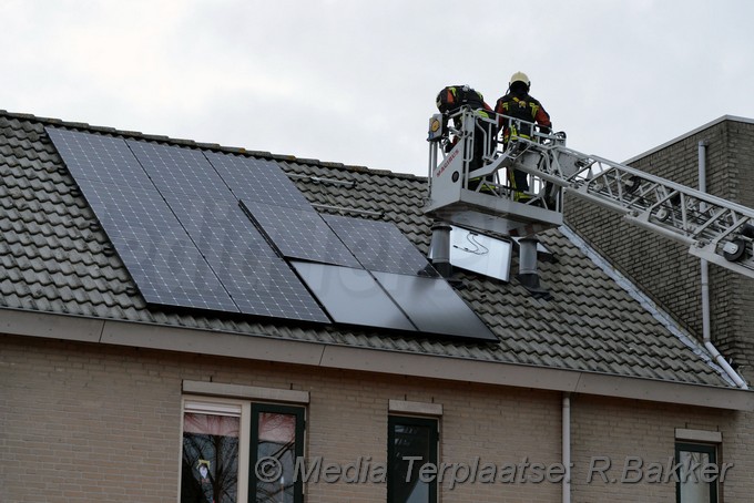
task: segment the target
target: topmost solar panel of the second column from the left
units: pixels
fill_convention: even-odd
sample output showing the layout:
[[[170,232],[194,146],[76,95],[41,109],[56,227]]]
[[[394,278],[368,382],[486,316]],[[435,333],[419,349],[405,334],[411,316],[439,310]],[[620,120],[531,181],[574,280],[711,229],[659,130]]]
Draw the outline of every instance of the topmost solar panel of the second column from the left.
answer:
[[[126,140],[126,144],[157,189],[210,199],[232,199],[233,194],[201,151]]]

